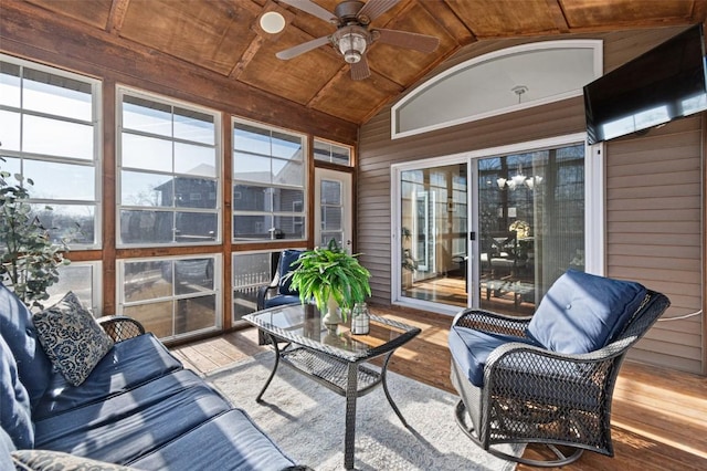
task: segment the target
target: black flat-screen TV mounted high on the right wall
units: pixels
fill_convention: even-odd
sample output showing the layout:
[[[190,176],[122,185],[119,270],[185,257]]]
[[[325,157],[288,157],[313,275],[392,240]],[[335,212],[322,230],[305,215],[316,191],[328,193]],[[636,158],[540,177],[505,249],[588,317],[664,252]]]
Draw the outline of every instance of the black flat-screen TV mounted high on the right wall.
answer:
[[[589,144],[650,129],[707,109],[703,25],[584,86]]]

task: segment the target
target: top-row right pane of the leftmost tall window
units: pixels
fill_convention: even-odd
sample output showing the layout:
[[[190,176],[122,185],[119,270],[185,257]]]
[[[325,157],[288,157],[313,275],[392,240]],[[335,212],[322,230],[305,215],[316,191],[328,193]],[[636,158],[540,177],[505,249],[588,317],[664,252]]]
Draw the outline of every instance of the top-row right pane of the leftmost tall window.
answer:
[[[91,122],[91,84],[24,69],[22,105],[25,109]]]

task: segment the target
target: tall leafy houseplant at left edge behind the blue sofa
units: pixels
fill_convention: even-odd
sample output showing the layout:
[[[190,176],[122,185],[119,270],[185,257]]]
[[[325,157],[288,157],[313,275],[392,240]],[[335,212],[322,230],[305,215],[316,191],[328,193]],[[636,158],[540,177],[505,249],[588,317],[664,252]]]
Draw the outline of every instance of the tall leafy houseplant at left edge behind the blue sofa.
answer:
[[[70,262],[66,241],[52,243],[29,203],[31,179],[0,170],[0,281],[30,307],[43,308],[46,290],[59,281],[59,268]],[[24,184],[24,185],[23,185]],[[46,210],[52,208],[46,207]]]

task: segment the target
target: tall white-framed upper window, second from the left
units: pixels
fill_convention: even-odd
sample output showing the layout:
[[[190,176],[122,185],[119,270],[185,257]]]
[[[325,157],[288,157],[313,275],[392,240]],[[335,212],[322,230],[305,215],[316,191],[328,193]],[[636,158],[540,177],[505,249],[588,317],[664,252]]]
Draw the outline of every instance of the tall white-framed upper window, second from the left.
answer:
[[[119,95],[118,244],[219,242],[218,113]]]

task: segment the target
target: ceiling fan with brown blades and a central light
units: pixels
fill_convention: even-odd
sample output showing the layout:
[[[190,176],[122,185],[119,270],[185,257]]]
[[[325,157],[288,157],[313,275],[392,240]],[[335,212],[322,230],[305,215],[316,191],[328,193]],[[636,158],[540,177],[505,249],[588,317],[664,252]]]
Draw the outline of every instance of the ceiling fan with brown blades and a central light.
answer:
[[[326,22],[334,23],[337,30],[326,36],[286,49],[275,54],[278,59],[289,60],[325,44],[331,44],[351,64],[351,78],[363,80],[371,75],[366,60],[366,51],[374,41],[421,52],[433,52],[440,40],[426,34],[400,30],[370,28],[371,21],[394,7],[400,0],[345,0],[336,6],[334,13],[310,0],[279,0]]]

